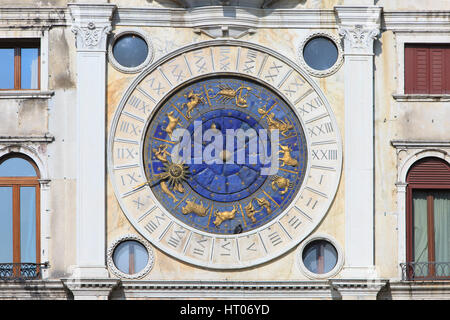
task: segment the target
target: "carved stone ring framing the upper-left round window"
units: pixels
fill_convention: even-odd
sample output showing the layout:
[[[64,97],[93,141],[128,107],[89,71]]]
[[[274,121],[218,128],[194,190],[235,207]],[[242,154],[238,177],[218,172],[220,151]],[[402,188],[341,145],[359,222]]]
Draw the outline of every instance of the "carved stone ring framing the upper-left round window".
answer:
[[[128,67],[121,65],[114,58],[114,54],[113,54],[114,43],[116,42],[117,39],[119,39],[120,37],[122,37],[126,34],[138,35],[139,37],[144,39],[145,43],[147,44],[147,48],[148,48],[148,54],[147,54],[147,58],[145,59],[145,61],[142,62],[140,65],[133,67],[133,68],[128,68]],[[114,37],[111,37],[109,44],[108,44],[108,60],[109,60],[109,62],[114,67],[114,69],[116,69],[117,71],[123,72],[123,73],[137,73],[137,72],[141,71],[142,69],[144,69],[146,66],[148,66],[152,62],[153,56],[154,56],[154,49],[153,49],[152,40],[143,30],[138,29],[138,28],[120,29],[120,31],[118,31],[117,33],[114,34]]]

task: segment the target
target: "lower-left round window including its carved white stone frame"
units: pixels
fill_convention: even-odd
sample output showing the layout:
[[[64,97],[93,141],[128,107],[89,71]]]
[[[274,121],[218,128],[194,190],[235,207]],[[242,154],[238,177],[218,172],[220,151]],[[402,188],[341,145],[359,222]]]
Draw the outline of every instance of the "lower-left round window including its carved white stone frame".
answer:
[[[132,235],[117,240],[108,253],[108,265],[119,277],[140,278],[153,267],[153,251],[149,244]]]

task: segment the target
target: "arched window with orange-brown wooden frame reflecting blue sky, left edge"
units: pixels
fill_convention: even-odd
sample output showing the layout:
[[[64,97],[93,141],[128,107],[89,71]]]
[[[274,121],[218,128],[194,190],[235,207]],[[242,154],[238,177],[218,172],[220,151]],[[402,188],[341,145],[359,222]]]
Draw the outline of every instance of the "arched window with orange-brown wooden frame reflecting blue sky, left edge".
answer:
[[[38,276],[40,190],[36,164],[22,154],[0,159],[0,279]]]

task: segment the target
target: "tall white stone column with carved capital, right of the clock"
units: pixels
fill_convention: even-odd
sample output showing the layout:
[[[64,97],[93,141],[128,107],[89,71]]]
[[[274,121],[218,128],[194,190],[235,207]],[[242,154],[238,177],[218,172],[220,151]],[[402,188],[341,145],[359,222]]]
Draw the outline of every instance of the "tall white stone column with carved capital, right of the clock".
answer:
[[[373,41],[381,8],[336,6],[345,57],[345,269],[348,278],[374,277]]]

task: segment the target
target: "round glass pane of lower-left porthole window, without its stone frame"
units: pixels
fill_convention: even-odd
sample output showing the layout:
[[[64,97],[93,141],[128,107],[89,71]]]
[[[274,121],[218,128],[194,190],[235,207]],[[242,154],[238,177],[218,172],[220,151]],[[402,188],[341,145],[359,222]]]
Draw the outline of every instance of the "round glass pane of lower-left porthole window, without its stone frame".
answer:
[[[113,253],[114,265],[121,272],[135,274],[140,272],[148,263],[147,249],[137,241],[124,241],[117,246]]]

